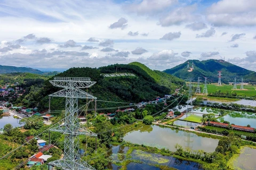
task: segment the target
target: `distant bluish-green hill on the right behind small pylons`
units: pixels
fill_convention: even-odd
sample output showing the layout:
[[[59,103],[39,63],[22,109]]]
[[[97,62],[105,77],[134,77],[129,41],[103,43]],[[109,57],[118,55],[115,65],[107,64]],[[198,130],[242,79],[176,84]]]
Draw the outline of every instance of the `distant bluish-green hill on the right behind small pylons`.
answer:
[[[188,62],[190,67],[194,63],[193,71],[187,68]],[[252,79],[247,75],[254,73],[229,62],[212,59],[206,61],[188,60],[183,64],[177,65],[172,69],[164,70],[163,72],[175,75],[183,80],[189,77],[195,78],[196,80],[197,77],[201,77],[202,79],[204,79],[203,77],[207,77],[210,82],[218,82],[218,71],[221,71],[221,80],[223,83],[234,82],[235,77],[237,82],[241,81],[241,78],[244,78],[244,82],[249,82]]]

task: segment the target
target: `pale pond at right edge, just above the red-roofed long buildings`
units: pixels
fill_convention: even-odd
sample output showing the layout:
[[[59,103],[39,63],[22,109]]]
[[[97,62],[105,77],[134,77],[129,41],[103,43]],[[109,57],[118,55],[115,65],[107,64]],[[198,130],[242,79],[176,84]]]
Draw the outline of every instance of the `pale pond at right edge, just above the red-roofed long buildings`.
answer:
[[[243,112],[231,112],[223,117],[220,117],[218,121],[228,121],[235,125],[247,126],[251,125],[252,128],[256,128],[256,115],[254,113],[243,113]]]

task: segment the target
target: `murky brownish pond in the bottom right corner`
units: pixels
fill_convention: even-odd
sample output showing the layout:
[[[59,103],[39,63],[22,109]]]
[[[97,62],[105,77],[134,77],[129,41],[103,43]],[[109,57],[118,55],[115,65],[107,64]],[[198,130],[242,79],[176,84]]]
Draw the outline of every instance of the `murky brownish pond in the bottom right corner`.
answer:
[[[244,147],[241,149],[241,154],[234,160],[233,166],[237,169],[256,169],[255,163],[256,149]]]

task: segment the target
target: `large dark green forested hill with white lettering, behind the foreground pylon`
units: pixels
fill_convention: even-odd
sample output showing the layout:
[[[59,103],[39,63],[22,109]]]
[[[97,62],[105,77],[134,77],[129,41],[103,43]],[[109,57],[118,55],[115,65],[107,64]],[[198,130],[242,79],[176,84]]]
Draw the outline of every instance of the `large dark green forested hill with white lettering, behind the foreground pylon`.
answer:
[[[146,69],[146,71],[145,71]],[[119,76],[119,77],[104,77],[104,74],[117,73],[132,73],[135,76]],[[181,79],[173,77],[173,75],[166,74],[159,71],[152,71],[145,65],[139,63],[131,64],[114,64],[109,66],[99,67],[93,69],[90,67],[71,68],[65,72],[57,74],[56,77],[89,77],[91,81],[96,81],[88,92],[97,97],[98,100],[108,101],[122,101],[127,103],[138,103],[141,101],[152,100],[157,96],[163,97],[166,94],[171,94],[178,87],[181,87],[185,82]],[[51,78],[53,79],[53,78]],[[40,109],[47,109],[49,94],[59,90],[55,88],[47,80],[41,91],[36,94],[30,91],[23,99],[28,97],[37,103]],[[51,99],[51,109],[63,109],[65,100],[63,98]],[[111,103],[110,103],[111,104]],[[97,103],[99,107],[113,106],[109,103]]]

